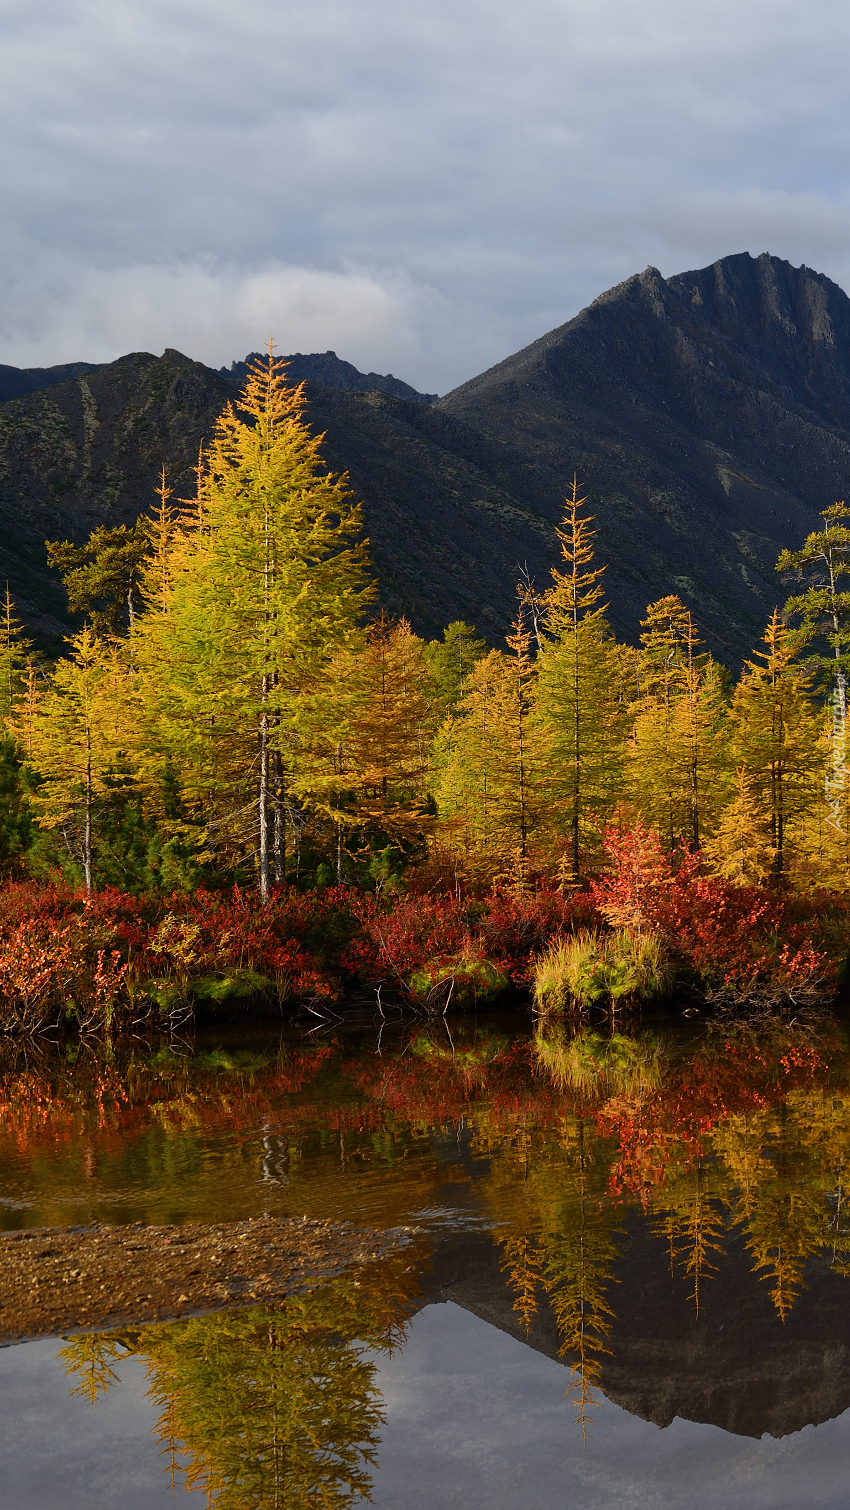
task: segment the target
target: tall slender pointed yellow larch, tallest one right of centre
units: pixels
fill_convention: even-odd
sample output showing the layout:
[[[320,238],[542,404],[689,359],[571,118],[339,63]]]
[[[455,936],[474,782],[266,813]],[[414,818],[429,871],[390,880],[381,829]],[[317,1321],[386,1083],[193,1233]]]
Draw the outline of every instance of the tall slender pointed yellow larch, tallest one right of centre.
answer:
[[[617,654],[601,604],[604,568],[593,566],[587,500],[566,498],[560,541],[563,569],[542,599],[537,720],[544,732],[547,826],[569,846],[572,882],[581,852],[616,802],[622,784],[624,705]],[[596,823],[590,827],[589,820]]]

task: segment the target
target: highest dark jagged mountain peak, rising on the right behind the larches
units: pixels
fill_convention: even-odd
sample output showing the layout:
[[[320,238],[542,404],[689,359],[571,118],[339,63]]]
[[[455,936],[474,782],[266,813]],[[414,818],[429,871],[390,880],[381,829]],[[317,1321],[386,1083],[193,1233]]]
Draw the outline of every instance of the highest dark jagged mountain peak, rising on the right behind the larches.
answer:
[[[850,300],[767,255],[648,269],[439,408],[550,516],[578,473],[624,628],[672,589],[740,654],[782,596],[781,547],[847,486]]]

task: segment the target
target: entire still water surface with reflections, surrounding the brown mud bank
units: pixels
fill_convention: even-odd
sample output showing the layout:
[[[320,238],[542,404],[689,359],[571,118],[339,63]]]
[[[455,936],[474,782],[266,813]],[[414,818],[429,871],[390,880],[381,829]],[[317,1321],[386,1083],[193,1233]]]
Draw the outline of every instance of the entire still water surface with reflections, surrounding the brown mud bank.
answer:
[[[418,1231],[282,1305],[0,1350],[3,1510],[844,1507],[848,1161],[839,1022],[11,1059],[8,1229]]]

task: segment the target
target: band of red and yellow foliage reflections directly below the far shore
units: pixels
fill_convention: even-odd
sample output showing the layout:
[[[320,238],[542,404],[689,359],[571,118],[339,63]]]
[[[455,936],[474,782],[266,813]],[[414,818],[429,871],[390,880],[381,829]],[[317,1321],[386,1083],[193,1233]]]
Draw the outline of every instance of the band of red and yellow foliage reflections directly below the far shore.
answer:
[[[288,1181],[287,1199],[316,1214],[329,1202],[340,1208],[349,1179],[368,1178],[385,1220],[403,1222],[414,1202],[441,1202],[447,1175],[463,1179],[500,1223],[525,1327],[551,1297],[578,1394],[596,1385],[608,1345],[617,1228],[628,1206],[663,1235],[702,1317],[735,1238],[750,1253],[753,1290],[755,1276],[764,1279],[781,1317],[812,1259],[850,1273],[850,1055],[829,1025],[817,1037],[731,1027],[725,1037],[684,1039],[545,1024],[528,1040],[470,1018],[385,1034],[380,1054],[373,1037],[356,1055],[346,1040],[269,1065],[216,1051],[192,1066],[162,1055],[121,1074],[92,1066],[86,1120],[83,1080],[66,1065],[50,1095],[41,1069],[23,1065],[0,1095],[0,1125],[6,1113],[9,1136],[26,1143],[38,1123],[36,1152],[53,1151],[68,1126],[68,1136],[80,1132],[71,1146],[82,1154],[82,1132],[94,1139],[101,1122],[98,1137],[113,1126],[127,1149],[136,1125],[220,1128],[255,1117],[260,1149],[223,1145],[217,1178],[233,1170],[240,1191],[248,1178]],[[453,1164],[448,1149],[460,1146],[460,1128],[463,1161]],[[199,1146],[187,1139],[195,1160]],[[183,1179],[172,1132],[142,1151],[159,1160],[156,1179],[171,1169],[163,1149],[174,1163],[169,1178]],[[50,1167],[56,1182],[54,1158],[39,1154],[33,1167]],[[383,1179],[388,1172],[393,1179]],[[581,1413],[586,1401],[577,1404]]]

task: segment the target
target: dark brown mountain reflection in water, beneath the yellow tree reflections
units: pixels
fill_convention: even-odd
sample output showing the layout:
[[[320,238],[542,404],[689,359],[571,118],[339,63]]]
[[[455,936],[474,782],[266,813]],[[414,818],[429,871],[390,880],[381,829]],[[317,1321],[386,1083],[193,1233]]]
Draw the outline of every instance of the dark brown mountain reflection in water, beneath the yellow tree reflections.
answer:
[[[737,1244],[694,1317],[688,1284],[670,1279],[663,1240],[640,1219],[628,1226],[616,1265],[610,1356],[599,1370],[608,1400],[660,1427],[682,1416],[755,1438],[787,1436],[850,1409],[850,1294],[842,1276],[812,1265],[809,1288],[784,1323],[765,1288],[753,1287],[752,1261]],[[439,1244],[427,1300],[453,1300],[547,1357],[560,1357],[551,1305],[539,1305],[525,1332],[486,1238]]]

